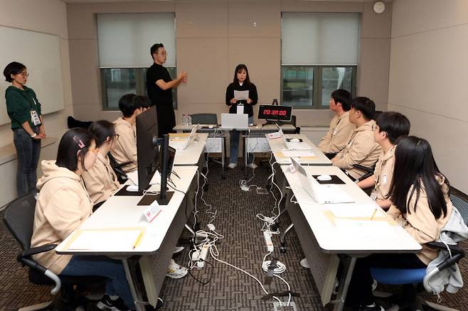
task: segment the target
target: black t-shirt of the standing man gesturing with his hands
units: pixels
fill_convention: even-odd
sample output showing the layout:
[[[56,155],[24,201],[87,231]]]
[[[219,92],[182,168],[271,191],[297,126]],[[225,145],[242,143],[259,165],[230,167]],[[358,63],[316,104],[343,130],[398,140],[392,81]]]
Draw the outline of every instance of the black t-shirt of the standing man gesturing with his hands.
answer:
[[[172,106],[172,89],[161,89],[156,81],[170,82],[171,75],[162,65],[154,63],[147,71],[147,90],[151,105]]]

